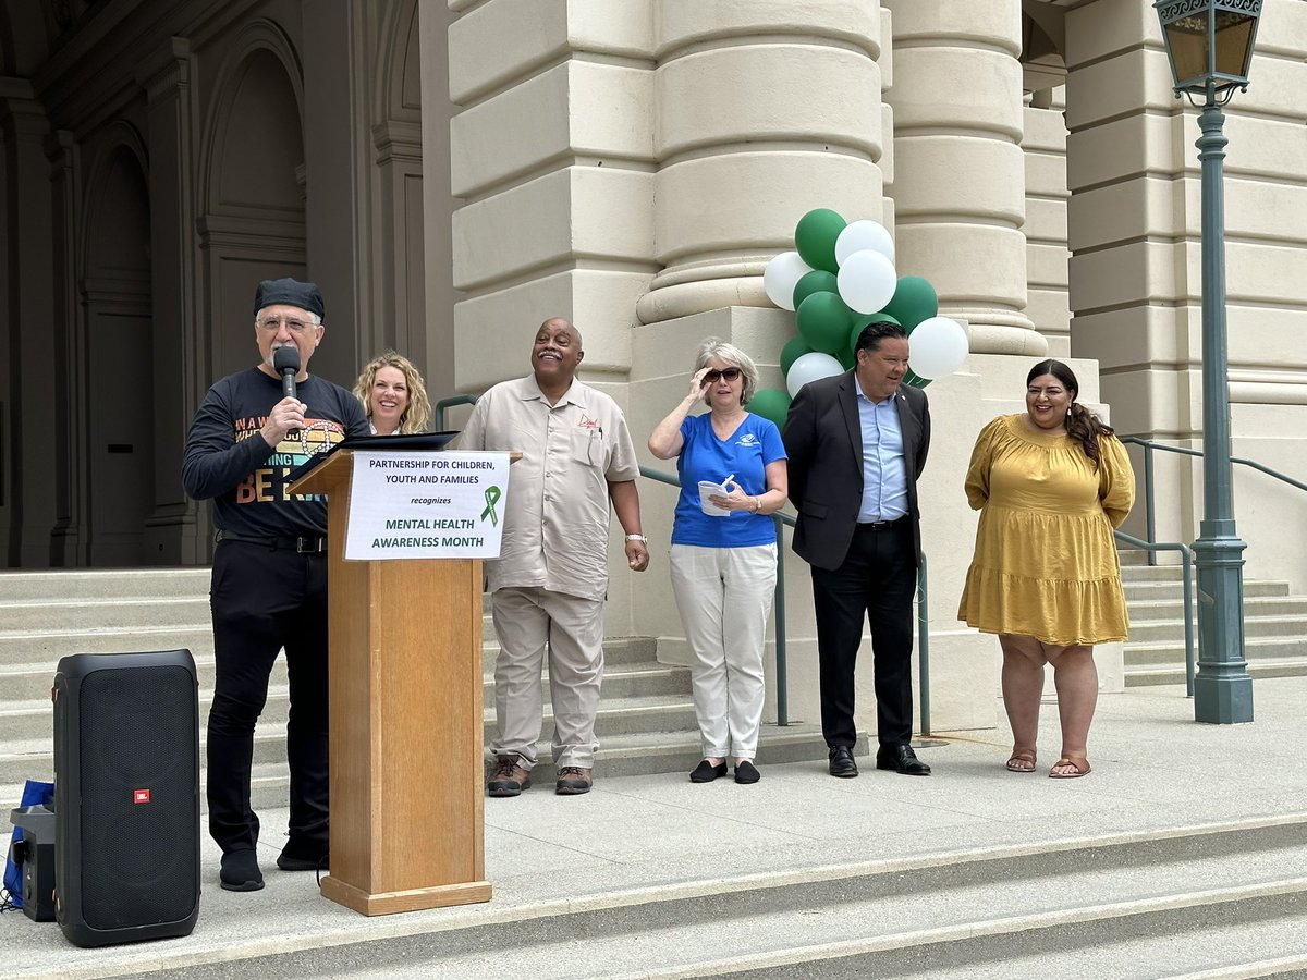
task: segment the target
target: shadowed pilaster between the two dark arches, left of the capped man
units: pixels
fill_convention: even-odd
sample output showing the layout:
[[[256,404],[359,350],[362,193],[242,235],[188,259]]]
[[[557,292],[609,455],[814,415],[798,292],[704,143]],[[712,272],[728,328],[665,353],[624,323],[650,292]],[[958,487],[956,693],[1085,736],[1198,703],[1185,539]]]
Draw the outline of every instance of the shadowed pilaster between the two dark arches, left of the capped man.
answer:
[[[182,448],[208,389],[196,354],[195,91],[191,46],[171,38],[137,82],[149,98],[150,295],[154,349],[154,510],[145,524],[145,559],[159,564],[208,561],[207,507],[182,493]]]

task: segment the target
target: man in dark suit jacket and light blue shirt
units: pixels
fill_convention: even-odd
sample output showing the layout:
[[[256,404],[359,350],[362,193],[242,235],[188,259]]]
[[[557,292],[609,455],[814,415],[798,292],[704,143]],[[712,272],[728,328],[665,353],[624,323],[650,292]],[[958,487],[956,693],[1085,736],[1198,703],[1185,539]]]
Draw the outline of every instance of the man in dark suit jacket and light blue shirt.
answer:
[[[857,337],[857,365],[805,384],[782,438],[789,498],[799,508],[795,553],[812,566],[821,662],[821,720],[830,774],[857,775],[853,666],[863,617],[872,627],[877,768],[928,776],[912,738],[912,597],[920,511],[916,481],[931,447],[925,393],[902,384],[908,341],[893,321]]]

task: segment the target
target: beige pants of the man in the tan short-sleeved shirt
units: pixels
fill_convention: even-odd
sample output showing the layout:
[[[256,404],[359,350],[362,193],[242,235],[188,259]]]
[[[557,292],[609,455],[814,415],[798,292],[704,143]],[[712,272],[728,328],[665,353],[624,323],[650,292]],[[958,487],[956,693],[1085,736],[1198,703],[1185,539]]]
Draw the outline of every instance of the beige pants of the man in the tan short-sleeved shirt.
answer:
[[[541,669],[549,644],[554,764],[593,768],[595,712],[604,679],[604,600],[541,588],[503,588],[491,597],[499,656],[494,665],[497,737],[491,755],[536,764],[544,711]]]

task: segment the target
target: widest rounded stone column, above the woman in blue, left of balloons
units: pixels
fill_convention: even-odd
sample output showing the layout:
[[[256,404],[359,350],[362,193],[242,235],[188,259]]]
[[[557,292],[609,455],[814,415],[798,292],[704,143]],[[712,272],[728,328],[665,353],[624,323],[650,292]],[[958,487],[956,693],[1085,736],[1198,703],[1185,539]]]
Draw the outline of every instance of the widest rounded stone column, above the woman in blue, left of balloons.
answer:
[[[654,221],[643,323],[770,307],[762,269],[813,208],[882,217],[876,4],[659,9]]]

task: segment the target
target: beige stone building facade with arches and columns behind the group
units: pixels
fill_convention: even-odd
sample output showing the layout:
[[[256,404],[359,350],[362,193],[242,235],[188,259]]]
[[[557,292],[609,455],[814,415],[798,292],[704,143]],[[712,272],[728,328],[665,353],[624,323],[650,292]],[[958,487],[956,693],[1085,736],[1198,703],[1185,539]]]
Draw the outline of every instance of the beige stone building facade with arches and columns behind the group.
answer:
[[[1233,431],[1304,480],[1307,4],[1266,0],[1257,42],[1226,127]],[[257,280],[322,285],[315,372],[350,384],[393,346],[433,397],[523,374],[567,316],[642,435],[706,335],[780,382],[793,315],[761,273],[833,208],[889,227],[968,329],[928,391],[933,708],[992,724],[997,645],[954,621],[971,443],[1053,355],[1123,434],[1201,447],[1196,137],[1144,0],[0,0],[3,564],[208,561],[182,442],[252,363]],[[1192,540],[1201,474],[1157,477],[1159,538]],[[1235,491],[1247,574],[1307,587],[1283,533],[1307,498]],[[673,498],[642,493],[655,566],[635,602],[614,563],[608,629],[674,660]]]

